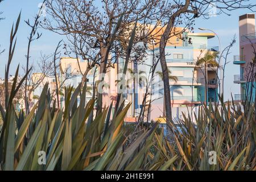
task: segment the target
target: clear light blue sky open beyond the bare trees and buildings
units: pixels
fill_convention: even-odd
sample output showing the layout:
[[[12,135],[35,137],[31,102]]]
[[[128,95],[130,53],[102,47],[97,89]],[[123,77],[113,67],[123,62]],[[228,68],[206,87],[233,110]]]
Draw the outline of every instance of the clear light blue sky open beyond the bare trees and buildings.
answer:
[[[28,18],[32,20],[32,17],[38,12],[38,5],[42,2],[40,0],[5,0],[0,4],[0,11],[3,11],[1,15],[4,17],[4,20],[0,22],[0,50],[8,49],[9,47],[9,37],[12,23],[15,22],[18,17],[19,11],[22,11],[22,18],[20,21],[20,26],[18,30],[18,40],[16,45],[16,50],[13,58],[13,63],[11,63],[10,73],[14,74],[16,66],[26,63],[26,51],[27,51],[27,36],[30,33],[30,28],[24,20]],[[251,0],[254,2],[254,0]],[[236,34],[238,37],[238,16],[251,13],[249,10],[236,10],[231,12],[231,16],[227,15],[217,15],[212,16],[210,19],[197,19],[195,32],[201,32],[198,30],[199,27],[208,28],[213,30],[220,36],[221,47],[224,48],[228,46],[229,42],[232,40],[233,36]],[[39,32],[42,32],[42,38],[36,40],[32,43],[31,47],[31,61],[36,63],[40,59],[40,52],[43,54],[50,54],[54,52],[54,49],[63,36],[54,34],[53,32],[45,31],[40,29]],[[218,46],[217,38],[209,40],[209,46]],[[233,75],[238,75],[240,73],[239,66],[233,65],[233,55],[239,55],[239,43],[237,43],[232,48],[232,52],[228,57],[228,65],[226,66],[225,72],[225,100],[231,98],[230,93],[240,94],[240,85],[233,84]],[[0,77],[4,76],[5,65],[7,63],[7,51],[0,55]]]

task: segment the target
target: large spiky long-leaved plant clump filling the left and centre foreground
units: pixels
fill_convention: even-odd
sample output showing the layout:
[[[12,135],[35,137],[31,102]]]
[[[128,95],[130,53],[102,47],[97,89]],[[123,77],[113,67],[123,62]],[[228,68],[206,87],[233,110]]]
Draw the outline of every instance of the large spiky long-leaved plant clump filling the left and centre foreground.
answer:
[[[81,86],[81,85],[80,85]],[[134,170],[160,169],[170,156],[155,158],[154,143],[163,136],[156,134],[157,123],[141,129],[135,139],[123,125],[130,105],[110,122],[111,109],[104,109],[91,123],[88,117],[94,101],[85,106],[85,91],[65,90],[65,108],[58,110],[48,84],[28,115],[10,110],[1,133],[1,168],[5,170]],[[13,91],[13,90],[12,90]],[[81,102],[77,103],[80,96]],[[51,103],[53,103],[51,105]],[[158,138],[155,140],[155,137]],[[154,142],[155,141],[155,142]],[[46,154],[40,163],[40,154]],[[172,158],[171,162],[174,162]],[[165,165],[170,166],[170,161]]]

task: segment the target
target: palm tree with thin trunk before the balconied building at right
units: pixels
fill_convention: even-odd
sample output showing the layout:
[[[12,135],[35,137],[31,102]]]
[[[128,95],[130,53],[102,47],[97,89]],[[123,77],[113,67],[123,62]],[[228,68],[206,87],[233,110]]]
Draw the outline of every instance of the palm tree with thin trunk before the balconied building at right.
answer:
[[[205,77],[205,93],[204,93],[204,103],[207,105],[208,102],[208,66],[218,67],[216,58],[218,57],[216,52],[207,51],[204,57],[199,59],[196,63],[197,66],[204,65],[204,77]]]

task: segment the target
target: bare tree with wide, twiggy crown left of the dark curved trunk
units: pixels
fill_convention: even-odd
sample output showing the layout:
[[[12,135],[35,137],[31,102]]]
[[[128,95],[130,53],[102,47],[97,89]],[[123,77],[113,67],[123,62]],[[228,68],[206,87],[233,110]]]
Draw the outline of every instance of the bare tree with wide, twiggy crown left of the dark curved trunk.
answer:
[[[140,22],[137,30],[141,32],[137,34],[134,45],[139,42],[146,44],[154,31],[154,27],[148,28],[150,24],[154,23],[157,27],[159,23],[156,21],[163,18],[164,11],[171,9],[160,0],[104,0],[101,3],[94,0],[48,0],[47,5],[48,17],[51,18],[45,19],[42,26],[57,34],[67,35],[73,52],[90,63],[83,73],[82,82],[95,65],[100,65],[103,77],[111,62],[117,60],[116,57],[126,55],[134,22]],[[115,30],[121,18],[122,22]],[[137,45],[138,48],[141,49]]]

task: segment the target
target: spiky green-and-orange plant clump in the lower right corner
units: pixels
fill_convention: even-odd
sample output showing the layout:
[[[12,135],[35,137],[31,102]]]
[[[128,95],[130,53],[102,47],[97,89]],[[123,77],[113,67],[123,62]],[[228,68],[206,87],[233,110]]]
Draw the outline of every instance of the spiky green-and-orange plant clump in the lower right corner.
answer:
[[[246,115],[240,105],[221,102],[222,106],[201,106],[194,113],[195,122],[183,113],[180,130],[173,130],[172,142],[166,140],[162,149],[178,156],[173,169],[256,170],[254,107],[247,107]]]

